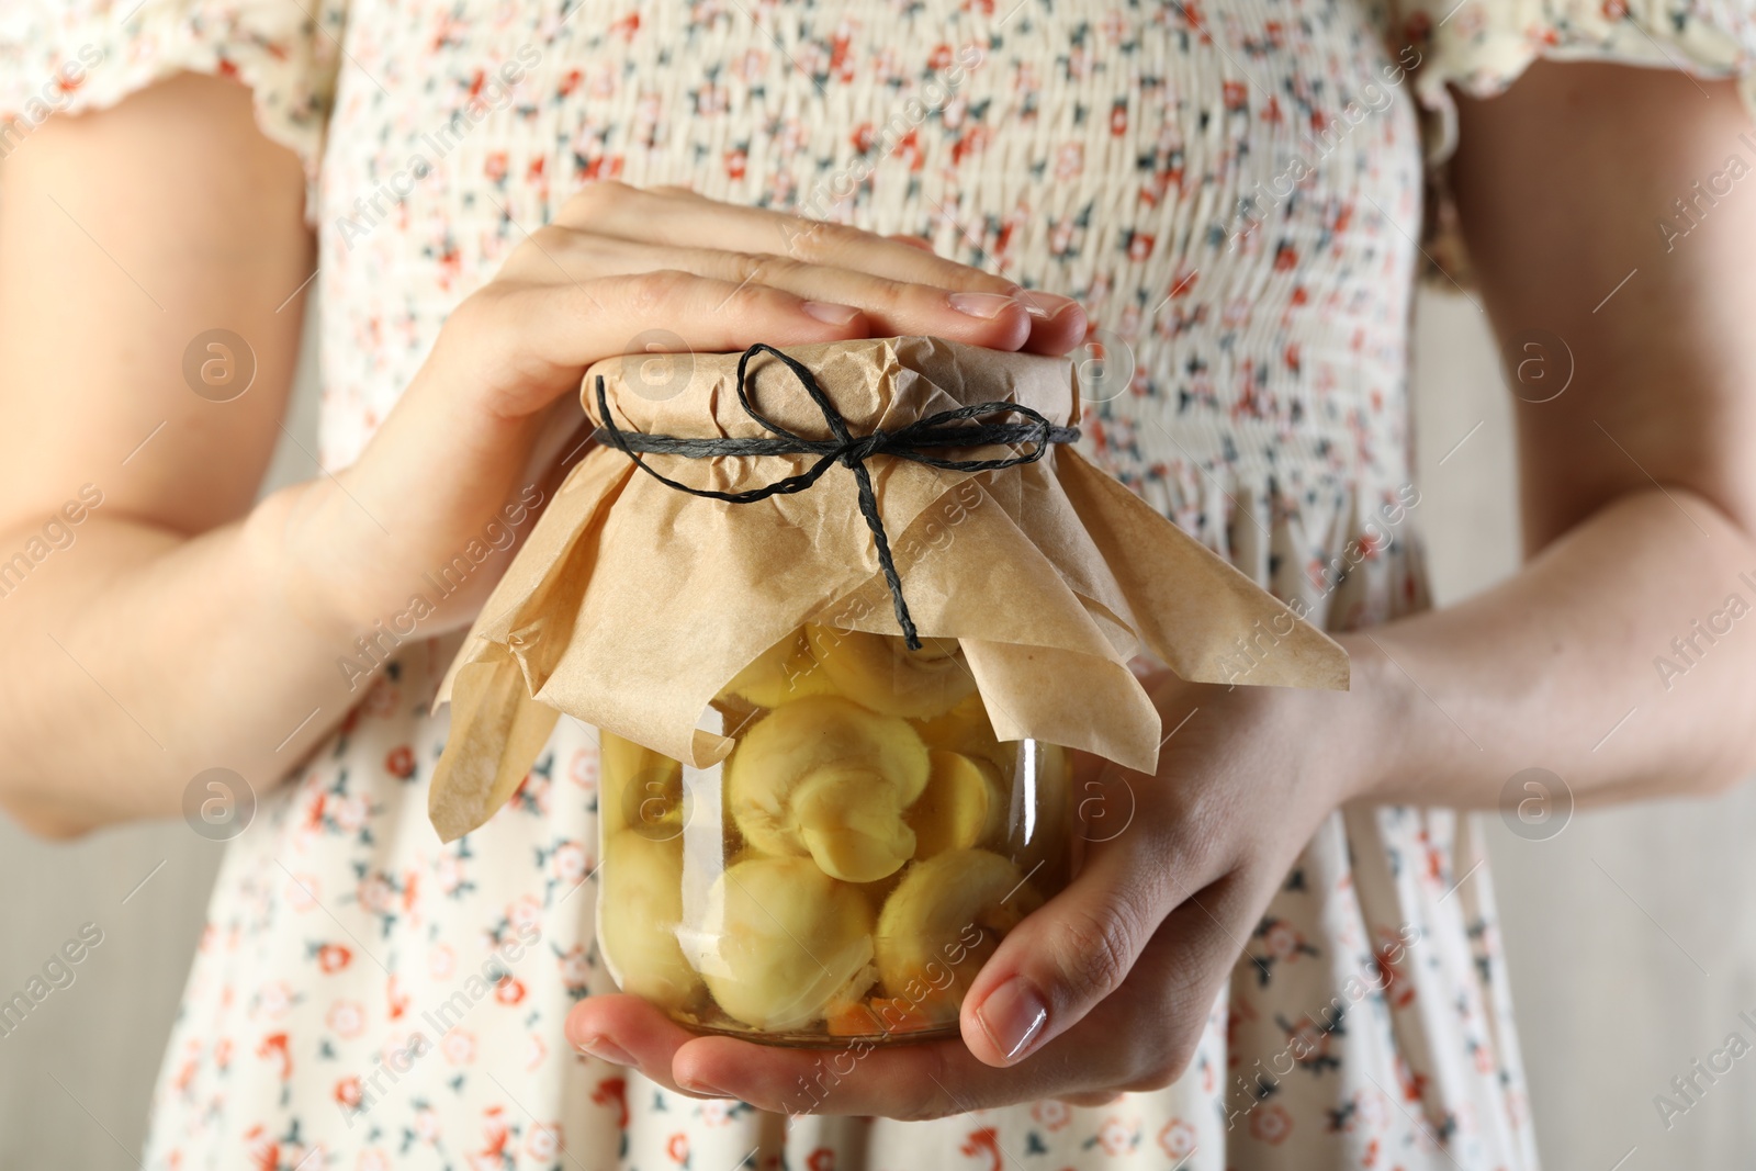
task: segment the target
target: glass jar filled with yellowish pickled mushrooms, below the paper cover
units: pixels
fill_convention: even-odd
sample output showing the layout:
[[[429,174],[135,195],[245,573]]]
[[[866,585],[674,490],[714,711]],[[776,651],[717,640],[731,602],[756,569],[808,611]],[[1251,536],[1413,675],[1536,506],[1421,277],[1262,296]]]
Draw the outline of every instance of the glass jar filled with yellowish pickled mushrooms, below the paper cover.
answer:
[[[1068,881],[1068,753],[997,741],[955,639],[808,625],[715,699],[688,769],[609,732],[597,929],[623,992],[773,1045],[957,1032]]]

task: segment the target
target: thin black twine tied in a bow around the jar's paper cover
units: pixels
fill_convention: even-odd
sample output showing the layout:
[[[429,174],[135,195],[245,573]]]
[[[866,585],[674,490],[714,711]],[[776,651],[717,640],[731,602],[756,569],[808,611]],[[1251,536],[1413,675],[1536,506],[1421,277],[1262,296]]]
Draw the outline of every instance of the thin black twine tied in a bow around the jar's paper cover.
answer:
[[[771,353],[787,363],[787,367],[799,379],[799,384],[804,386],[804,392],[811,395],[811,402],[815,402],[824,413],[824,421],[829,423],[829,430],[834,439],[808,439],[804,435],[797,435],[752,406],[750,393],[746,390],[748,367],[750,358],[759,353]],[[822,479],[824,472],[836,463],[843,463],[852,469],[853,479],[860,488],[860,514],[866,518],[866,527],[873,530],[873,544],[878,550],[878,565],[883,567],[883,578],[890,585],[890,602],[896,609],[896,621],[903,627],[903,637],[908,641],[910,650],[917,651],[920,650],[920,636],[915,632],[915,620],[908,614],[908,602],[903,600],[903,579],[897,576],[896,560],[890,557],[890,537],[885,535],[883,520],[878,516],[878,495],[873,492],[873,478],[866,469],[866,460],[874,455],[889,455],[899,460],[925,463],[927,467],[943,467],[952,472],[989,472],[1004,467],[1017,467],[1020,463],[1034,463],[1043,458],[1043,453],[1048,451],[1048,444],[1073,442],[1080,437],[1080,430],[1076,427],[1055,427],[1043,418],[1041,413],[1017,402],[976,402],[954,411],[929,414],[906,427],[899,427],[894,432],[878,428],[869,435],[855,435],[848,430],[848,421],[841,418],[836,404],[832,404],[829,395],[824,393],[824,388],[817,384],[817,376],[811,374],[810,367],[797,358],[783,355],[766,342],[757,342],[746,349],[741,358],[738,358],[738,402],[743,406],[745,414],[773,432],[776,439],[683,439],[680,435],[648,435],[644,432],[622,430],[616,427],[615,420],[609,418],[609,400],[604,393],[604,376],[599,374],[597,414],[602,423],[597,428],[597,437],[627,455],[643,472],[658,483],[676,488],[678,492],[687,492],[694,497],[725,500],[727,504],[753,504],[755,500],[767,500],[769,497],[804,492]],[[1029,421],[978,421],[968,427],[955,425],[964,420],[975,420],[982,414],[1022,414]],[[927,455],[927,451],[934,448],[980,448],[985,444],[1033,446],[1024,455],[1013,455],[1003,460],[948,460]],[[708,460],[722,455],[815,455],[818,460],[806,471],[787,476],[785,479],[776,479],[762,488],[748,488],[745,492],[715,492],[711,488],[690,488],[688,485],[660,474],[639,456],[641,451],[648,455],[681,455],[692,460]]]

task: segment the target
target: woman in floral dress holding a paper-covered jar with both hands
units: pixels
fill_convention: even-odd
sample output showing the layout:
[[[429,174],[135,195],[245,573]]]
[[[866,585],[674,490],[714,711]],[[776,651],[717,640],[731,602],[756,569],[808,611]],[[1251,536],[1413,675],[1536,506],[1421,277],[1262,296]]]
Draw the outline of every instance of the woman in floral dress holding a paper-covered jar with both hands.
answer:
[[[1605,801],[1756,764],[1756,643],[1651,665],[1756,565],[1756,202],[1728,177],[1756,33],[1424,5],[11,14],[0,792],[44,834],[172,813],[211,767],[260,802],[148,1164],[1535,1167],[1449,809],[1528,767]],[[1529,564],[1442,613],[1408,481],[1417,105],[1498,334],[1572,374],[1519,407]],[[253,504],[313,288],[325,471]],[[611,995],[574,722],[437,843],[432,688],[587,363],[1089,328],[1134,374],[1094,383],[1085,451],[1336,632],[1354,690],[1159,679],[1157,781],[1105,779],[1129,829],[1008,938],[962,1041],[825,1076]]]

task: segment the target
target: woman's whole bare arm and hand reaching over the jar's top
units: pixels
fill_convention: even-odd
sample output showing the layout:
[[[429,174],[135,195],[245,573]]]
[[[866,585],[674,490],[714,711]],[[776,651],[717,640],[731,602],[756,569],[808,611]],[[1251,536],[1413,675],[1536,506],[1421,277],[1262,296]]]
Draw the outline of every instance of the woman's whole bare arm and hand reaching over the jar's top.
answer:
[[[44,834],[176,813],[214,765],[267,792],[411,618],[421,636],[467,623],[583,439],[576,390],[599,358],[655,337],[1062,353],[1085,334],[1073,302],[918,241],[599,183],[455,309],[353,467],[258,504],[304,311],[288,293],[314,258],[302,169],[248,90],[181,74],[53,118],[0,186],[4,548],[83,483],[102,493],[77,550],[0,606],[0,806]],[[184,374],[218,323],[256,360],[225,404]]]

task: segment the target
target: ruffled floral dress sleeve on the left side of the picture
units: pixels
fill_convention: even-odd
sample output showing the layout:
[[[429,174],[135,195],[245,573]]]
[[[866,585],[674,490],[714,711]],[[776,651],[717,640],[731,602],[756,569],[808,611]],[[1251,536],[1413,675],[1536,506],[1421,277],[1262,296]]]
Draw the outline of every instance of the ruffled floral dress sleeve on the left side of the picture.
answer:
[[[335,97],[346,0],[11,0],[0,5],[0,158],[54,114],[177,72],[249,86],[256,125],[306,167],[306,218]]]

